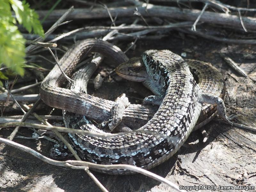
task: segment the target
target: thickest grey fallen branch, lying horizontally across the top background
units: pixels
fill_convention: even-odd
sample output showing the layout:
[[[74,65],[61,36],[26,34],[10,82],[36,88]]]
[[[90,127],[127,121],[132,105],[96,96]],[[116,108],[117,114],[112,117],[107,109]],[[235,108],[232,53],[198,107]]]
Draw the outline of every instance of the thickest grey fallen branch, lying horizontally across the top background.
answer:
[[[160,6],[148,4],[146,10],[146,3],[142,6],[137,6],[138,12],[143,17],[164,17],[180,20],[192,20],[195,21],[198,15],[201,13],[201,10],[196,9],[183,9],[180,10],[178,7],[169,7],[169,6]],[[49,20],[56,20],[67,10],[56,10],[49,15]],[[110,14],[115,17],[134,17],[134,11],[136,11],[136,6],[130,7],[115,7],[109,8],[108,11]],[[109,14],[106,9],[103,8],[94,8],[94,9],[76,9],[72,12],[68,19],[77,20],[77,19],[101,19],[108,18]],[[37,11],[40,17],[44,17],[47,11]],[[254,30],[256,28],[256,18],[253,17],[242,17],[244,26],[247,29]],[[239,16],[236,15],[227,15],[226,13],[216,13],[216,12],[204,12],[200,18],[201,21],[207,22],[210,24],[220,24],[222,26],[233,26],[235,28],[241,27],[241,21]]]

